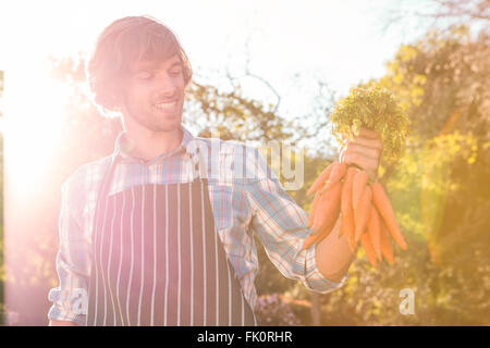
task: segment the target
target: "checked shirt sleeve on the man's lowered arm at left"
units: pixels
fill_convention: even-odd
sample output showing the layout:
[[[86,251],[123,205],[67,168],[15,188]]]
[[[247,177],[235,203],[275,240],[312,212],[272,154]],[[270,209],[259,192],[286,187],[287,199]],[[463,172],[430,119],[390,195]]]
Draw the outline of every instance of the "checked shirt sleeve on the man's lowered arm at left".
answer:
[[[59,286],[49,291],[52,306],[48,319],[85,325],[89,260],[79,210],[75,209],[76,198],[79,200],[81,195],[78,188],[71,178],[61,187],[60,247],[56,259]]]

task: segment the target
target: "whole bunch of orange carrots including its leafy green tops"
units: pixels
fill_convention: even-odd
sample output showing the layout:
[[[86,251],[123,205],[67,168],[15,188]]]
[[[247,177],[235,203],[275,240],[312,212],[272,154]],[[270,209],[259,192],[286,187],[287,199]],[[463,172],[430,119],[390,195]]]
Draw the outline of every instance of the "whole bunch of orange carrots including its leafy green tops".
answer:
[[[332,134],[339,140],[366,127],[380,135],[385,161],[401,158],[409,120],[389,90],[376,86],[354,87],[347,97],[335,103],[329,117]],[[304,249],[326,238],[339,215],[340,236],[345,235],[353,252],[360,241],[375,268],[382,258],[393,263],[390,236],[403,250],[406,249],[382,185],[369,183],[367,173],[357,166],[347,166],[342,160],[331,163],[307,194],[315,194],[315,198],[307,225],[311,232],[304,241]]]

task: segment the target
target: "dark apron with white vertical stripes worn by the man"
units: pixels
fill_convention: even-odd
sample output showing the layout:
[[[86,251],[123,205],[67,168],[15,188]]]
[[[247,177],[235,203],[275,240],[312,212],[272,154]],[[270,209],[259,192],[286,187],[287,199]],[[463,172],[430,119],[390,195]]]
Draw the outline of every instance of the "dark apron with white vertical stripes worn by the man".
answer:
[[[97,199],[86,324],[257,325],[215,227],[207,179],[109,196],[114,158]]]

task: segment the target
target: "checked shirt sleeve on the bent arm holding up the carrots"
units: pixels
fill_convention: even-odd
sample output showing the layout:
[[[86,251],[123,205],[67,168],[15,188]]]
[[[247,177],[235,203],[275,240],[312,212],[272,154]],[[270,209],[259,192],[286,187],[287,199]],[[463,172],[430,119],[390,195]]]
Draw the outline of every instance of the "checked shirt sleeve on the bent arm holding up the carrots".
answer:
[[[257,150],[253,157],[248,156],[247,162],[256,165],[258,174],[247,185],[248,200],[254,210],[252,228],[271,262],[285,277],[299,279],[313,291],[326,294],[341,287],[347,274],[339,283],[329,281],[317,268],[315,245],[303,249],[303,241],[310,232],[306,227],[306,212],[284,190]]]

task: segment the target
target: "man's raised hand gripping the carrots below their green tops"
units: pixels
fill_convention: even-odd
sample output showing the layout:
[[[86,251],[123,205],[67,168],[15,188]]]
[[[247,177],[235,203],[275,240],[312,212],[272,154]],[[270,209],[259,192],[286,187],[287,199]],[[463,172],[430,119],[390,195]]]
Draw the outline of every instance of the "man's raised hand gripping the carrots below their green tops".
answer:
[[[382,142],[378,133],[360,128],[359,136],[352,140],[345,139],[341,149],[340,160],[346,164],[356,164],[366,171],[370,181],[378,177],[379,161],[381,158]]]

